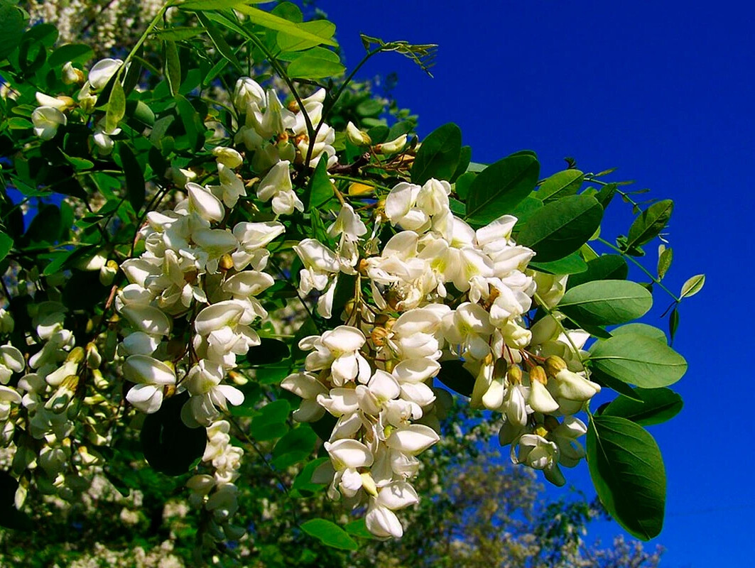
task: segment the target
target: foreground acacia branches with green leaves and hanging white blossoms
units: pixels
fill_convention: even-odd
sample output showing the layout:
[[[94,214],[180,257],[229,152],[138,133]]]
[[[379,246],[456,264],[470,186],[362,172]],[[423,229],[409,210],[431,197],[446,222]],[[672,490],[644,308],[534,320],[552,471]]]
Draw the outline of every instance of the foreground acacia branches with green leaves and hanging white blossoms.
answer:
[[[660,288],[673,340],[704,283],[667,290],[663,244],[655,272],[638,260],[671,201],[573,163],[542,178],[529,150],[477,164],[455,124],[420,142],[350,82],[384,51],[428,71],[435,46],[363,35],[344,78],[332,23],[252,4],[168,2],[122,60],[91,64],[0,2],[0,522],[82,499],[100,472],[127,493],[156,471],[196,508],[198,557],[228,552],[253,459],[288,498],[324,490],[355,517],[294,506],[291,533],[397,539],[450,389],[492,411],[515,464],[562,485],[587,456],[609,514],[658,535],[643,425],[678,413],[686,362],[630,322]],[[617,196],[636,219],[612,242]],[[602,389],[618,397],[590,409]]]

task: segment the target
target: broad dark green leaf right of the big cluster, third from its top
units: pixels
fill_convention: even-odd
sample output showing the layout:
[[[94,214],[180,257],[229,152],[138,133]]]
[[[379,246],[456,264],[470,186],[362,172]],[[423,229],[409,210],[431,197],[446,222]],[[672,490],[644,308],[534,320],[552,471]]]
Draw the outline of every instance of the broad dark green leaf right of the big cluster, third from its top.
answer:
[[[595,198],[565,197],[535,211],[519,232],[517,243],[535,250],[538,262],[558,260],[579,250],[596,232],[602,216]]]

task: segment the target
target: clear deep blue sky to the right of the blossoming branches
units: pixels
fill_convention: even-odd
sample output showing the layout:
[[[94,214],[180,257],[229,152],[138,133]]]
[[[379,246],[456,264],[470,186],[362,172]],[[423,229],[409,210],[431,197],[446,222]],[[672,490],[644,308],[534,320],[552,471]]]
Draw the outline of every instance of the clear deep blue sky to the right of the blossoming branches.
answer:
[[[394,94],[425,135],[459,124],[473,160],[534,149],[543,171],[570,155],[676,203],[670,226],[679,290],[707,274],[680,310],[675,348],[689,372],[672,422],[651,427],[664,453],[664,566],[751,564],[755,20],[734,2],[335,2],[320,0],[354,65],[359,32],[440,45],[434,79],[396,54],[362,77],[399,73]],[[604,235],[625,232],[628,207]],[[610,229],[610,230],[609,230]],[[655,263],[655,247],[647,247]],[[665,297],[656,295],[665,307]],[[647,323],[661,325],[654,309]],[[569,471],[593,495],[587,467]],[[596,527],[608,537],[617,525]]]

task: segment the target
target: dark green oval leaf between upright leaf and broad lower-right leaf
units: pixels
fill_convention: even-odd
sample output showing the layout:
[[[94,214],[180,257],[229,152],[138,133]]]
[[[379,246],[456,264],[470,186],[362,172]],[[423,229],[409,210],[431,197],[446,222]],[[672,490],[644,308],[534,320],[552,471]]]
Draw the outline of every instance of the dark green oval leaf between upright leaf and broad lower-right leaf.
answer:
[[[535,189],[539,175],[538,158],[529,154],[508,156],[490,164],[479,173],[470,186],[467,220],[470,223],[486,225],[504,213],[510,213]],[[559,258],[561,256],[538,260],[547,262]]]

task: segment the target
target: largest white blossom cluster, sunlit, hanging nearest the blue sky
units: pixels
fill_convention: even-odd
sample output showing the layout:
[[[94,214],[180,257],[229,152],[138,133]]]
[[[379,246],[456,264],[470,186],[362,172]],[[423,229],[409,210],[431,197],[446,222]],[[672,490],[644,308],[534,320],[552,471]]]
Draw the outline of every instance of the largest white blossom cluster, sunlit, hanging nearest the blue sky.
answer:
[[[550,381],[540,372],[538,361],[571,352],[547,333],[548,320],[527,329],[538,282],[525,272],[534,253],[511,238],[516,218],[504,215],[475,231],[451,213],[450,191],[439,180],[396,185],[380,216],[402,230],[379,253],[380,218],[362,239],[367,228],[349,204],[328,229],[335,250],[314,239],[294,247],[304,265],[300,293],[321,291],[325,317],[337,279],[356,275],[346,325],[302,339],[300,348],[310,351],[305,370],[282,386],[303,399],[295,419],[311,422],[325,412],[337,419],[325,444],[330,462],[315,477],[328,480],[332,498],[366,505],[366,525],[378,537],[402,536],[394,511],[418,500],[410,480],[416,456],[439,440],[442,408],[432,381],[442,361],[464,361],[476,377],[472,404],[504,416],[501,443],[519,448],[514,461],[556,483],[559,462],[575,465],[584,456],[572,445],[584,424],[571,415],[599,390],[559,367],[560,359],[546,361]]]

